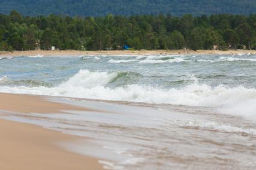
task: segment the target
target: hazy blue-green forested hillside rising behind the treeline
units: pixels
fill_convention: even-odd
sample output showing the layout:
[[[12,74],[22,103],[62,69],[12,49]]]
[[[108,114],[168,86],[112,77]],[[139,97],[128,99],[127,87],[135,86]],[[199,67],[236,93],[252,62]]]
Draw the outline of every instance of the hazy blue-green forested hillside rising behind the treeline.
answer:
[[[62,14],[105,16],[106,14],[251,14],[255,0],[1,0],[0,13],[17,10],[26,16]]]

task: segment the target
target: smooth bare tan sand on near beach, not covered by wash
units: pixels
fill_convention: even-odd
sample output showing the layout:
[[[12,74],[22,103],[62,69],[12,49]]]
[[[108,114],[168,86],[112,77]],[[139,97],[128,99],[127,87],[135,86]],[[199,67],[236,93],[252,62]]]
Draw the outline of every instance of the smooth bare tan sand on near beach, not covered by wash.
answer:
[[[58,110],[81,108],[48,102],[39,96],[0,93],[0,110],[56,113]],[[58,142],[75,142],[81,139],[76,136],[7,120],[0,120],[0,136],[0,169],[103,169],[96,158],[71,153],[58,146]]]

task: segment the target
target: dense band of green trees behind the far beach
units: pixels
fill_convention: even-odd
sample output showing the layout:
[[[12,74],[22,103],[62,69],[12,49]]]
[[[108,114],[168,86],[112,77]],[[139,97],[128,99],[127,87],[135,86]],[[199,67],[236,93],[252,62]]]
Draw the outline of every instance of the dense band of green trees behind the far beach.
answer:
[[[23,17],[0,14],[0,50],[256,49],[256,14]]]

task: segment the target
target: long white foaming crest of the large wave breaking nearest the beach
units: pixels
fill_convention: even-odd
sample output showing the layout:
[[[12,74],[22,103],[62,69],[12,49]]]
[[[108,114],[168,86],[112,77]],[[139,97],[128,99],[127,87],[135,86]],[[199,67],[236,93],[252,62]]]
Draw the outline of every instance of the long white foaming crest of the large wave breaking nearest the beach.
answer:
[[[56,87],[0,86],[0,92],[216,107],[222,113],[251,119],[255,119],[256,116],[256,89],[242,86],[231,88],[221,85],[211,87],[198,83],[194,76],[190,76],[194,83],[182,88],[161,89],[139,84],[130,84],[114,89],[107,87],[106,85],[117,76],[117,72],[81,70],[68,81]]]

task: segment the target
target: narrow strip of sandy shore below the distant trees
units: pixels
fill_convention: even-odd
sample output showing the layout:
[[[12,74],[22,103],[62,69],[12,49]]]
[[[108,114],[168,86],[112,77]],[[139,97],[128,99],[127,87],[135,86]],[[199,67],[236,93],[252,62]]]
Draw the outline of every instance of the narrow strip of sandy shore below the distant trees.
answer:
[[[31,51],[0,51],[0,57],[14,57],[14,56],[77,56],[77,55],[161,55],[161,54],[256,54],[256,50],[110,50],[110,51],[78,51],[78,50],[61,50],[61,51],[47,51],[47,50],[31,50]]]

